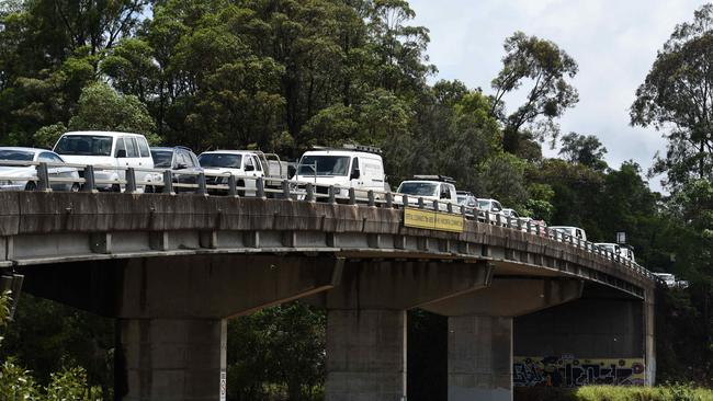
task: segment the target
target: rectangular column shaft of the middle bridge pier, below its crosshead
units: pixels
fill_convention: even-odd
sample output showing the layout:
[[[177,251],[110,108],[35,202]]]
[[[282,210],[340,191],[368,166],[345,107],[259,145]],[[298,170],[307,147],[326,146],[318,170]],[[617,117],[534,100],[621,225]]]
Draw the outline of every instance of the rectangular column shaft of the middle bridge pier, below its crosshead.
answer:
[[[406,311],[329,310],[327,401],[406,400]]]

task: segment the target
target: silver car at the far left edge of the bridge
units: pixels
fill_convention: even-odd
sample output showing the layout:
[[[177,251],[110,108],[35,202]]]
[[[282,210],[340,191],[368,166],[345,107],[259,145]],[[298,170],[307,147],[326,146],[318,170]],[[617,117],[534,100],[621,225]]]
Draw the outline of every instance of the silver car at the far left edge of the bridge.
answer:
[[[34,191],[37,188],[37,169],[35,165],[22,165],[22,162],[46,162],[50,187],[54,191],[79,191],[79,172],[71,167],[56,165],[65,163],[59,154],[45,149],[0,147],[0,191]],[[67,182],[52,182],[52,179],[71,179]],[[76,180],[76,181],[73,181]]]

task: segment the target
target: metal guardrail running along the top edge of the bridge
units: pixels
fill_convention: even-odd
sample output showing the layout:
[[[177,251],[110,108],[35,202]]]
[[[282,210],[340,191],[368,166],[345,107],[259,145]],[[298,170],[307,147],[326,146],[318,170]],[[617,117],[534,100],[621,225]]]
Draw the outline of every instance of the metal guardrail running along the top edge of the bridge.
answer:
[[[451,202],[432,199],[422,196],[392,193],[386,191],[362,191],[353,187],[340,187],[335,185],[322,185],[314,182],[283,180],[274,177],[258,177],[252,175],[233,175],[230,173],[206,173],[182,170],[123,168],[115,165],[84,165],[72,163],[46,163],[30,161],[0,161],[0,165],[35,167],[36,174],[27,176],[0,176],[0,181],[32,181],[36,183],[37,191],[52,191],[52,183],[77,183],[81,185],[82,192],[98,192],[98,186],[109,187],[118,185],[120,190],[126,193],[162,193],[176,195],[179,191],[190,191],[194,194],[210,196],[248,196],[257,198],[284,198],[303,202],[326,202],[329,204],[367,205],[370,207],[404,208],[414,207],[426,210],[459,214],[467,220],[476,220],[484,224],[500,226],[513,230],[520,230],[529,234],[550,238],[555,241],[565,242],[571,247],[582,249],[597,254],[606,260],[619,263],[635,273],[655,282],[663,282],[652,272],[640,264],[621,257],[620,254],[607,251],[595,245],[592,242],[582,241],[563,231],[533,224],[531,220],[523,221],[520,218],[512,218],[501,214],[493,214],[487,210],[479,210],[477,207],[455,205]],[[49,174],[49,168],[75,168],[81,171],[79,177],[54,177]],[[97,172],[117,171],[123,177],[116,180],[98,180]],[[137,172],[147,173],[150,180],[137,180]],[[181,177],[192,176],[195,183],[181,182]],[[208,181],[208,179],[212,179]],[[211,183],[208,183],[211,182]],[[248,183],[253,182],[253,185]],[[149,191],[146,191],[149,190]],[[151,191],[152,190],[152,191]]]

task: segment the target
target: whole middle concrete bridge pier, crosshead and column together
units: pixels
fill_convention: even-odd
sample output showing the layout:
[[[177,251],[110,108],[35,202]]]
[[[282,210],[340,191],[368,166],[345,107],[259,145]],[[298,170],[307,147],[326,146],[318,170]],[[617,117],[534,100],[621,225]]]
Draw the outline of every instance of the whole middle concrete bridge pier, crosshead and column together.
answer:
[[[464,262],[348,262],[327,308],[327,401],[406,400],[406,310],[488,285]]]

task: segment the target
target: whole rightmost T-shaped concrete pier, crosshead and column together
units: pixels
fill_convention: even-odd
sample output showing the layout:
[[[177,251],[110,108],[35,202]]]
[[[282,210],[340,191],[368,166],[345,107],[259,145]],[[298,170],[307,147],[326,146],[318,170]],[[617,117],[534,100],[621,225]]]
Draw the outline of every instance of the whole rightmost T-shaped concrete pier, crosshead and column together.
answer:
[[[571,279],[495,278],[423,309],[449,317],[449,401],[511,401],[513,317],[580,297]]]

